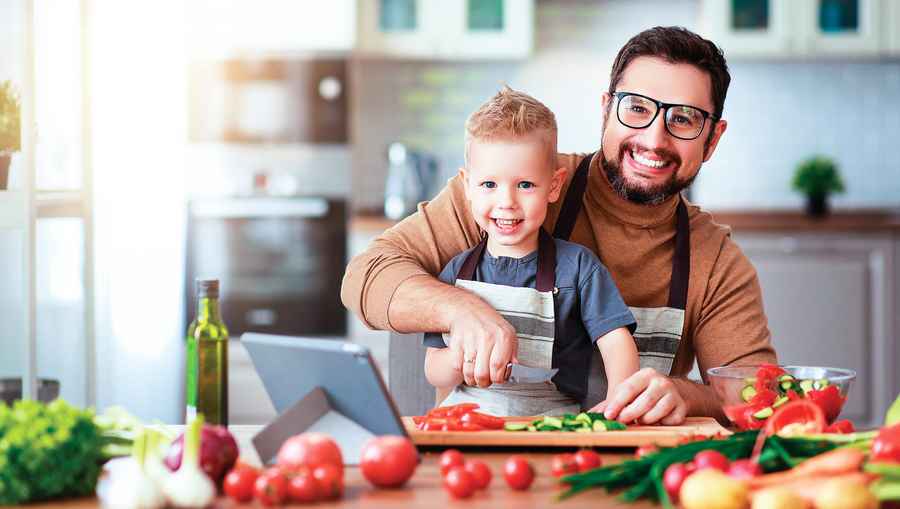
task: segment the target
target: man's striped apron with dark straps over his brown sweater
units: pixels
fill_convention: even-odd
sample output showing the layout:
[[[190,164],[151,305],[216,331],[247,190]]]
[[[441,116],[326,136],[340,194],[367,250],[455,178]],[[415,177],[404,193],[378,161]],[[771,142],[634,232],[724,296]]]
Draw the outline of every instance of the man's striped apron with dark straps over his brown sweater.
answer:
[[[581,211],[584,191],[594,154],[588,154],[572,177],[569,190],[560,210],[553,236],[568,239]],[[634,340],[642,368],[653,368],[668,375],[672,371],[675,353],[684,330],[684,310],[687,305],[688,279],[691,272],[691,229],[687,207],[679,196],[676,209],[675,254],[672,257],[672,279],[669,283],[669,300],[666,306],[640,308],[629,306],[637,321]],[[590,408],[606,398],[606,371],[599,351],[594,351],[588,377],[588,394],[583,402]]]

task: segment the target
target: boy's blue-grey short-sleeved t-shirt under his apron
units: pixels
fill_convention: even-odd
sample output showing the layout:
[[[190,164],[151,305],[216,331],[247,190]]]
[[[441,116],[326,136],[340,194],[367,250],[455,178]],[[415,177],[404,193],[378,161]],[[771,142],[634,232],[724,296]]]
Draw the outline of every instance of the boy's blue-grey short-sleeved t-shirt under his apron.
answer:
[[[636,322],[625,305],[619,289],[594,253],[581,244],[554,239],[556,243],[556,314],[553,342],[553,377],[556,387],[578,401],[587,394],[587,377],[594,343],[606,333],[628,327],[634,332]],[[468,249],[450,260],[438,278],[448,284],[456,283],[456,274],[465,262]],[[535,288],[537,280],[537,251],[522,258],[494,257],[485,250],[475,269],[475,280],[505,286]],[[440,334],[427,333],[425,346],[444,348]]]

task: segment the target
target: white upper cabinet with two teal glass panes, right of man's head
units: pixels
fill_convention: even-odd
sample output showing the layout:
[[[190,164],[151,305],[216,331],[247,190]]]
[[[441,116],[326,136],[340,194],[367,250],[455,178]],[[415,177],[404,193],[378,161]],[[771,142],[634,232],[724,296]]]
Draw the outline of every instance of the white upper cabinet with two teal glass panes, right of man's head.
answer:
[[[900,53],[895,0],[705,0],[703,33],[727,57]]]

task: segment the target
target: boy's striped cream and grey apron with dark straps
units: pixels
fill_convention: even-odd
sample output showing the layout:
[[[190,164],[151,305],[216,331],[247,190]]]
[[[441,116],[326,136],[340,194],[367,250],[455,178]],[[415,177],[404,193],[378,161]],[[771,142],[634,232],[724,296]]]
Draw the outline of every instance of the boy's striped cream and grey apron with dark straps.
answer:
[[[556,245],[553,238],[540,230],[538,235],[538,269],[536,288],[519,288],[475,281],[475,268],[484,257],[487,238],[466,258],[456,275],[456,286],[464,288],[490,304],[516,329],[519,363],[533,368],[553,367],[553,343],[556,338]],[[444,334],[444,342],[449,337]],[[441,406],[478,403],[493,415],[561,415],[576,413],[575,399],[561,393],[551,381],[539,383],[504,383],[490,387],[465,384],[453,389]]]

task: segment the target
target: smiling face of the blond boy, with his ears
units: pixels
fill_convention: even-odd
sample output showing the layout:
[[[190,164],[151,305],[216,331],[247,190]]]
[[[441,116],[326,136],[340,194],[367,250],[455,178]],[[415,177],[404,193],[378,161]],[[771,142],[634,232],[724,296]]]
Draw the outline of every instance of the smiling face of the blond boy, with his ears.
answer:
[[[490,253],[521,258],[537,249],[547,204],[559,198],[565,180],[565,169],[551,167],[544,144],[473,140],[468,167],[460,171]]]

